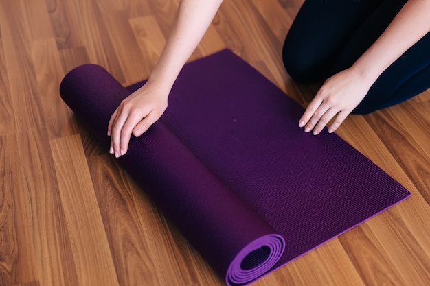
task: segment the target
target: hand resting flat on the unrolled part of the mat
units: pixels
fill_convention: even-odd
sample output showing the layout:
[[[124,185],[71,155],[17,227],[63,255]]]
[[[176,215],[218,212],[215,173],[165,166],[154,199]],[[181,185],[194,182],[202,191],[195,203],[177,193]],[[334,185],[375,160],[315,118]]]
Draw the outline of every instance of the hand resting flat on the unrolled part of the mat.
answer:
[[[328,78],[319,88],[299,120],[299,126],[305,132],[317,135],[333,117],[335,121],[328,129],[329,133],[341,125],[343,120],[363,100],[372,84],[366,84],[353,69],[346,69]]]

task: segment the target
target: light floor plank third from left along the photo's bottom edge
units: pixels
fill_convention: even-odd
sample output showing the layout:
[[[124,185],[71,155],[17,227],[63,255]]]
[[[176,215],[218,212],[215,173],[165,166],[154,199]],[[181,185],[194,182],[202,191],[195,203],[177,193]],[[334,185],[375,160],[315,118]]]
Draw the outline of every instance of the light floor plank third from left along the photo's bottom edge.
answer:
[[[119,285],[78,135],[50,141],[78,285]]]

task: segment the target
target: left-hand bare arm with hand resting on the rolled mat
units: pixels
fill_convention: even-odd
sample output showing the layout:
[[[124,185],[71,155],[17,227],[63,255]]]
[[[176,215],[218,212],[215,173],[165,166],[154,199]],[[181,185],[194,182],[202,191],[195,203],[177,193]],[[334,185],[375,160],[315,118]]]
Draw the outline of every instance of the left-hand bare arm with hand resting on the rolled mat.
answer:
[[[185,62],[203,38],[223,0],[182,0],[170,36],[148,82],[122,101],[108,125],[109,152],[126,154],[131,134],[140,136],[161,117]]]

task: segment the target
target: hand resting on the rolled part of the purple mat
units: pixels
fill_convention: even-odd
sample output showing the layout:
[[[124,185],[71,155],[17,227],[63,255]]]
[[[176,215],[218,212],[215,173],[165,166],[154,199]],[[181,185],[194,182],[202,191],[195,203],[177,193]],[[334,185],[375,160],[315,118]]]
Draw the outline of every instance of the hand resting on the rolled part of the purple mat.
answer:
[[[136,137],[142,135],[163,115],[168,93],[147,83],[121,102],[109,120],[109,153],[116,158],[126,154],[131,134]]]

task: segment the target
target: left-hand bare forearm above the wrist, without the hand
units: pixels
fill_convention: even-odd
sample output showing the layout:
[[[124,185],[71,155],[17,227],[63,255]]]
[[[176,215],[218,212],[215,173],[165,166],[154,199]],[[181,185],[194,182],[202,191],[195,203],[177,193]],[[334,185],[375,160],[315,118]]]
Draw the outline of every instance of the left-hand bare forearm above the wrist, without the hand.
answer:
[[[185,62],[203,38],[223,0],[182,0],[159,61],[148,83],[170,92]]]

